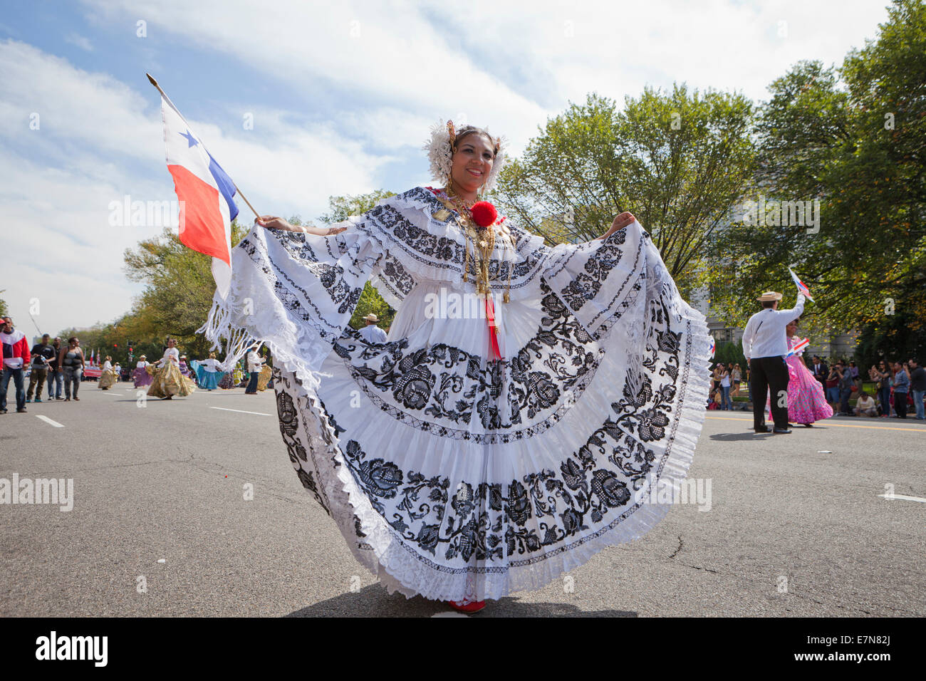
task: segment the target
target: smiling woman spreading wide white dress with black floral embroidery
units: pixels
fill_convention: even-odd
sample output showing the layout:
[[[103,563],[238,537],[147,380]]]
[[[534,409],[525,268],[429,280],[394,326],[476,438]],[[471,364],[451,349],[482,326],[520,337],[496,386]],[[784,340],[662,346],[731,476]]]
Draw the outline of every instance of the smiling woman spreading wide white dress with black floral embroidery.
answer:
[[[439,126],[428,148],[443,188],[328,232],[263,216],[203,331],[270,348],[290,460],[357,560],[474,612],[669,511],[641,495],[691,464],[709,338],[632,214],[546,246],[478,201],[499,140]],[[367,281],[397,309],[382,345],[348,324]],[[479,314],[429,313],[451,296]]]

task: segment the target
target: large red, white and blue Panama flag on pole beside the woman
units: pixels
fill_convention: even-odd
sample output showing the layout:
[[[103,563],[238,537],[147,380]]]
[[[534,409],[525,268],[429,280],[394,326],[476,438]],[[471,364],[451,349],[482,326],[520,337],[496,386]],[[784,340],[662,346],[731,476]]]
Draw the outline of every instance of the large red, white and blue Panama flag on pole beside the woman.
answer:
[[[161,115],[168,170],[180,201],[181,243],[212,256],[212,277],[225,297],[232,284],[232,220],[238,215],[234,183],[163,93]]]

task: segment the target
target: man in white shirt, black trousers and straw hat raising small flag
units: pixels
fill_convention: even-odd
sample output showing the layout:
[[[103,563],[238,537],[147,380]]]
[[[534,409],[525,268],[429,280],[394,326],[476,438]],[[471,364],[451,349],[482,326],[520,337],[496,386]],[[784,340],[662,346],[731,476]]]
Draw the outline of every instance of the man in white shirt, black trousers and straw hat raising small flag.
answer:
[[[749,363],[749,387],[753,401],[753,429],[768,433],[765,425],[765,402],[771,391],[773,432],[786,435],[788,428],[788,336],[785,327],[804,312],[804,296],[797,295],[791,309],[778,309],[782,294],[766,291],[759,296],[762,309],[749,318],[743,332],[743,354]],[[783,406],[782,406],[783,405]]]

